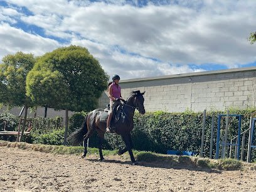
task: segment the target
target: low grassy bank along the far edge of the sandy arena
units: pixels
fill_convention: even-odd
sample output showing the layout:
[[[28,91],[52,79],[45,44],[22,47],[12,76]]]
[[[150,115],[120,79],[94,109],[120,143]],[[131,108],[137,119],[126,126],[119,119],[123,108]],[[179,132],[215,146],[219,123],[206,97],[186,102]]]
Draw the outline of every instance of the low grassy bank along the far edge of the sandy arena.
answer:
[[[53,154],[72,154],[72,155],[81,155],[83,152],[82,146],[50,146],[44,144],[28,144],[26,142],[8,142],[0,141],[0,147],[17,147],[19,149],[40,151]],[[88,147],[87,155],[99,155],[99,149]],[[118,156],[118,151],[113,150],[103,150],[104,156]],[[165,155],[157,154],[155,152],[147,151],[136,151],[133,150],[134,157],[137,161],[143,161],[146,163],[161,163],[168,164],[171,167],[183,167],[183,168],[200,168],[200,169],[218,169],[218,170],[242,170],[244,168],[249,168],[256,170],[256,163],[244,163],[242,161],[237,161],[236,159],[208,159],[200,157],[191,157],[191,156],[174,156],[174,155]],[[130,161],[129,153],[125,152],[121,156],[122,159]]]

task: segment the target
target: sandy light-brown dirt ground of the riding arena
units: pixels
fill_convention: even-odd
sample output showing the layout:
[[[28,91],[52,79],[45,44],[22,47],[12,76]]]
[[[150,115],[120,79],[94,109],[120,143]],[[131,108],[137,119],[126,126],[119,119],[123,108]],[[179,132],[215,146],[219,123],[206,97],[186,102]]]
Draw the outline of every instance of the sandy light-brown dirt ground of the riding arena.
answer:
[[[115,159],[114,159],[115,158]],[[256,171],[169,168],[0,147],[0,191],[256,191]]]

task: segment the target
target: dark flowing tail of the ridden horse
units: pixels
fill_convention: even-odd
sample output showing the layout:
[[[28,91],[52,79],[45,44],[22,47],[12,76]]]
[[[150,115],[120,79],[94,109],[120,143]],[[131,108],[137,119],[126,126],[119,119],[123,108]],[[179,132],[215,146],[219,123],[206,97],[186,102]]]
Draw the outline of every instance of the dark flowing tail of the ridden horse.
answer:
[[[83,120],[83,124],[80,127],[80,129],[77,129],[75,132],[73,132],[68,137],[68,143],[73,146],[79,146],[83,141],[83,136],[87,134],[87,116],[85,117],[85,120]]]

